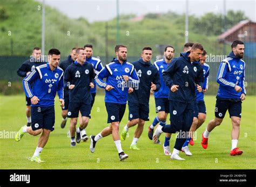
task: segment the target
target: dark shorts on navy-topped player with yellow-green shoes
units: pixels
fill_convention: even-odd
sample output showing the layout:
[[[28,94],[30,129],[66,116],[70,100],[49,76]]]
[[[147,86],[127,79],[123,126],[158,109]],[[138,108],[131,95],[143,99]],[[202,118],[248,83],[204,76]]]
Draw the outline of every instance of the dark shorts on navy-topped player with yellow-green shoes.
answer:
[[[128,102],[129,106],[129,121],[133,119],[142,119],[149,121],[149,104],[139,104]]]

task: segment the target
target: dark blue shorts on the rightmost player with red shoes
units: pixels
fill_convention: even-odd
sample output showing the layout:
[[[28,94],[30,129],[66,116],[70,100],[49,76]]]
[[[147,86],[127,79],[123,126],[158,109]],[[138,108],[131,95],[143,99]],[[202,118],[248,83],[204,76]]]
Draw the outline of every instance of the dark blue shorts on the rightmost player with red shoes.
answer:
[[[215,117],[223,119],[225,117],[227,110],[228,110],[228,113],[230,113],[230,118],[232,116],[241,118],[241,113],[242,113],[241,100],[232,101],[232,100],[216,99]]]

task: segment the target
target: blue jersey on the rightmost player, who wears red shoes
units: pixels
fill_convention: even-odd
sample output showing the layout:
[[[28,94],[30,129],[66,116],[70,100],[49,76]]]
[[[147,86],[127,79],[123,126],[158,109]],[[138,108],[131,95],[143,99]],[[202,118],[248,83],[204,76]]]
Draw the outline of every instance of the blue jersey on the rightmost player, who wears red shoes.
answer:
[[[227,58],[220,63],[216,79],[219,83],[217,97],[240,99],[241,93],[246,94],[245,62],[231,52]],[[242,91],[235,91],[235,85],[241,87]]]

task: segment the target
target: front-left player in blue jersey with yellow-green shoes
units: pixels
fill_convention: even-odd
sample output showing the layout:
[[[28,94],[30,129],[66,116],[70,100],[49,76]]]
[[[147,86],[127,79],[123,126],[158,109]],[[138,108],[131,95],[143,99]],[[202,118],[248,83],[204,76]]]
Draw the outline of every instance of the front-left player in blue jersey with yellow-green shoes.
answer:
[[[58,92],[59,102],[64,106],[63,99],[63,70],[58,67],[60,52],[58,49],[50,49],[48,53],[49,63],[36,67],[23,79],[23,88],[26,96],[31,99],[31,126],[23,126],[15,136],[20,141],[25,133],[31,135],[41,134],[35,153],[29,160],[42,162],[39,154],[48,142],[50,132],[54,130],[55,109],[54,99]],[[33,83],[31,89],[30,83]]]

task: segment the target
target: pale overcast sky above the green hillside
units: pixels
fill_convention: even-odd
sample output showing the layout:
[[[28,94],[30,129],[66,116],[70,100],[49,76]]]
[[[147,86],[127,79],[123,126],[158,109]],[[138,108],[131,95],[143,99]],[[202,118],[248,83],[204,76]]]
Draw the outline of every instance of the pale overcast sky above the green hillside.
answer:
[[[42,2],[43,0],[38,0]],[[109,20],[116,17],[116,0],[45,0],[46,5],[56,8],[70,18],[84,17],[89,22]],[[185,0],[119,0],[119,13],[144,15],[173,11],[185,12]],[[201,16],[206,12],[224,12],[224,0],[188,0],[190,15]],[[226,0],[226,11],[241,10],[251,20],[256,21],[256,0]]]

